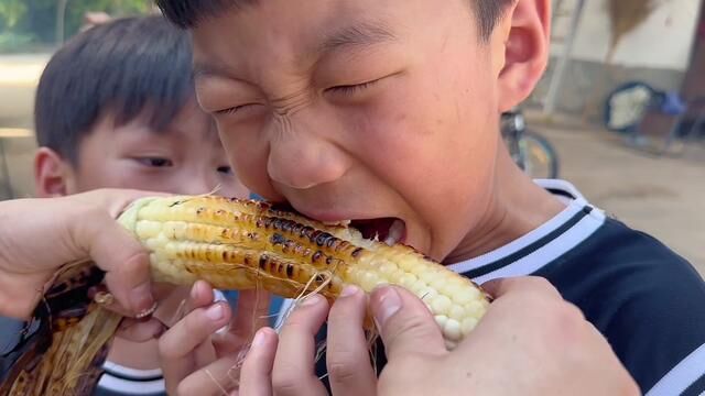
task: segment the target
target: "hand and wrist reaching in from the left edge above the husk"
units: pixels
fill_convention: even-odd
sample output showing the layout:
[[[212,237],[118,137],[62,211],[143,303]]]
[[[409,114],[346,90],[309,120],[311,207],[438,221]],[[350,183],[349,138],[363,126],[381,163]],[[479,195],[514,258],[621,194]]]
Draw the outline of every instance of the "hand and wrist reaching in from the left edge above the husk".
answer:
[[[131,315],[154,300],[149,257],[115,220],[127,205],[159,194],[96,190],[62,198],[0,202],[0,315],[26,318],[63,265],[93,258]]]

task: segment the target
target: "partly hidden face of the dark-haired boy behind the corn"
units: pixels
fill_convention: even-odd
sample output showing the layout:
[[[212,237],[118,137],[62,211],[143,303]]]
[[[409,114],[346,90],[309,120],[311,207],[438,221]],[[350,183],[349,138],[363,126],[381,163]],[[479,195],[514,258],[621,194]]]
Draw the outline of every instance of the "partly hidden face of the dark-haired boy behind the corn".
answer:
[[[68,194],[95,188],[133,188],[172,194],[247,196],[230,169],[213,123],[187,105],[165,131],[145,120],[115,127],[105,117],[80,143]]]

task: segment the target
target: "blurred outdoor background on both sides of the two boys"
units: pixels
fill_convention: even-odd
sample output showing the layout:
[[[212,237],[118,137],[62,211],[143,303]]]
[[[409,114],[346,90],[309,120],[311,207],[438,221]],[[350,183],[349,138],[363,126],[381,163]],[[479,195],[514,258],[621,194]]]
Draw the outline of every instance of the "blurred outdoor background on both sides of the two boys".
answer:
[[[663,240],[705,274],[701,0],[554,0],[551,63],[506,114],[516,160]],[[37,79],[64,41],[145,0],[0,0],[0,199],[33,194]]]

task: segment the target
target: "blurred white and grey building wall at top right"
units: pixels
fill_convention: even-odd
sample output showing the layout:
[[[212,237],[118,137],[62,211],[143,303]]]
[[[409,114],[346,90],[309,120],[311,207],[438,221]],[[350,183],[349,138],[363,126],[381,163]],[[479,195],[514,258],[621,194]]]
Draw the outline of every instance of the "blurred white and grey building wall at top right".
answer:
[[[554,0],[555,3],[558,1]],[[563,0],[555,10],[551,64],[530,103],[542,106],[547,86],[570,32],[568,15],[577,0]],[[617,46],[606,64],[611,36],[607,0],[586,0],[576,31],[573,54],[557,98],[557,110],[601,119],[603,100],[619,84],[643,80],[655,88],[679,90],[695,40],[699,0],[657,0],[657,9]]]

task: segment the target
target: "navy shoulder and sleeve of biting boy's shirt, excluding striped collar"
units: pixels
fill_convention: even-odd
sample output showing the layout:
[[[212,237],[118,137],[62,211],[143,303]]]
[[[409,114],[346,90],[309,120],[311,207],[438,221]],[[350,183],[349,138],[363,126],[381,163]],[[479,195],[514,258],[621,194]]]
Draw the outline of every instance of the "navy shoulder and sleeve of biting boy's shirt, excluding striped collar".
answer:
[[[705,283],[662,243],[609,220],[539,275],[583,310],[644,394],[705,392]]]

